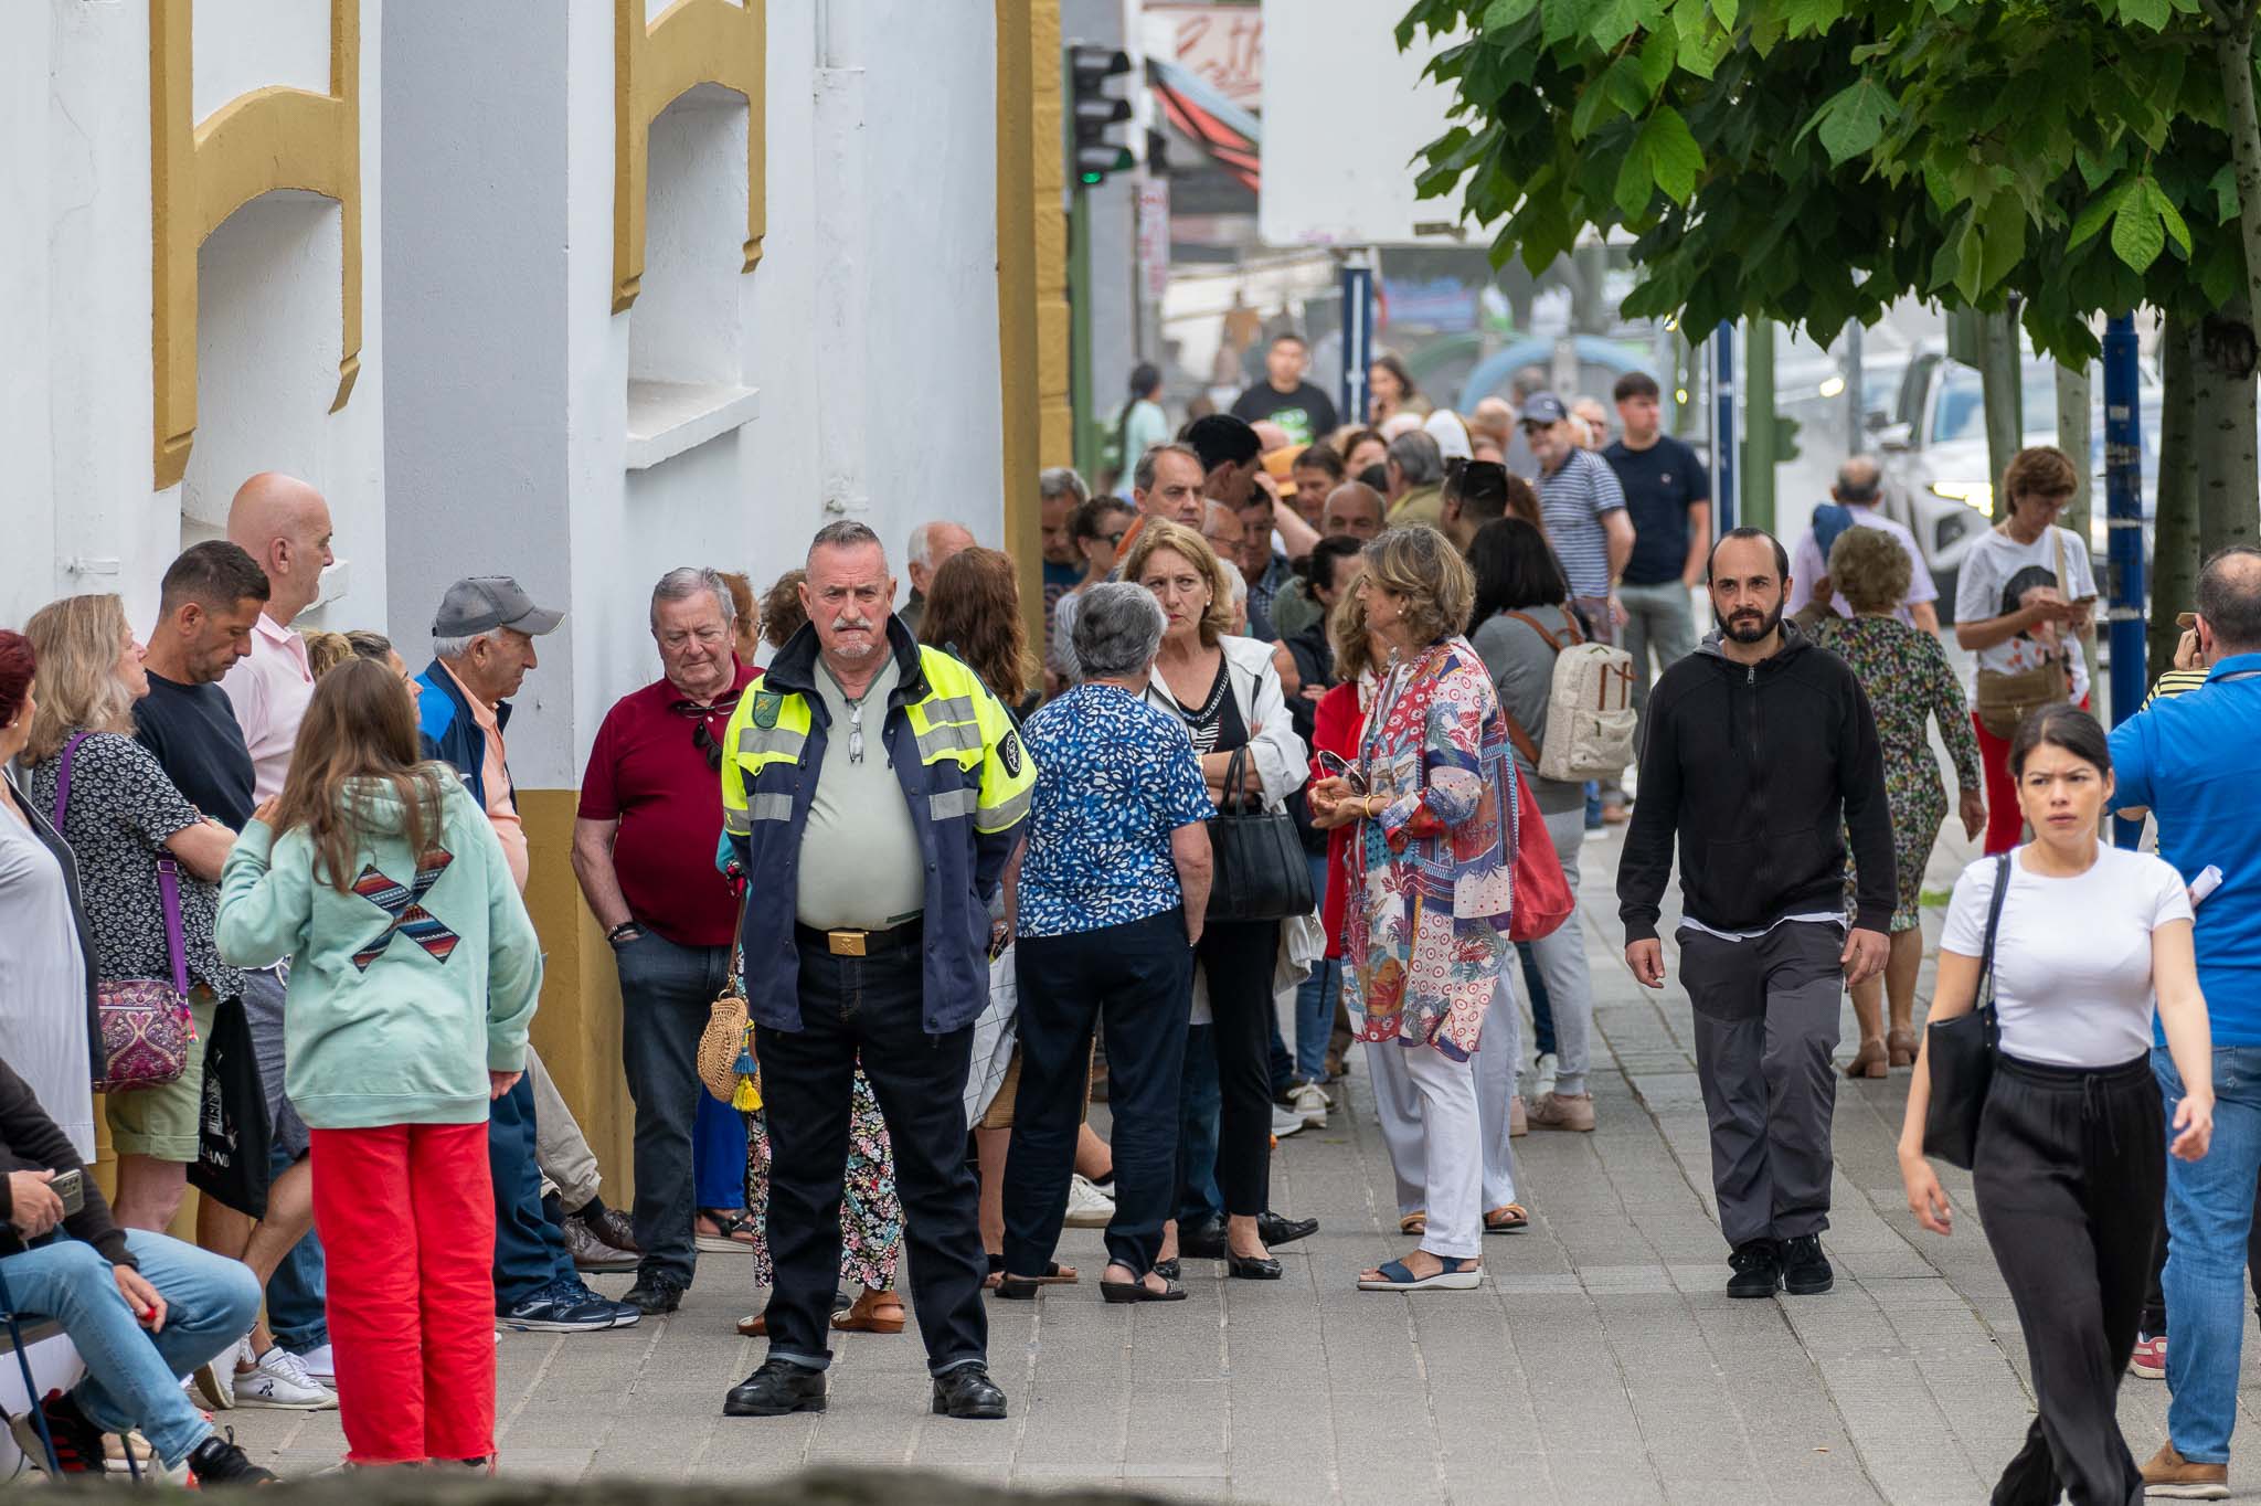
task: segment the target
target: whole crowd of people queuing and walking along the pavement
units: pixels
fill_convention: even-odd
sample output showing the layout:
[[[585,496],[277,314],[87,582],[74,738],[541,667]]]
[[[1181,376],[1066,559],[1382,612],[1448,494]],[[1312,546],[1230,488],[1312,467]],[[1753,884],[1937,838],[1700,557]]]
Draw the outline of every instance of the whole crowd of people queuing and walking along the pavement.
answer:
[[[1273,1208],[1277,1142],[1343,1110],[1354,1042],[1409,1241],[1357,1284],[1476,1289],[1531,1221],[1513,1140],[1596,1126],[1578,893],[1608,825],[1651,988],[1680,875],[1725,1291],[1825,1293],[1840,1074],[1913,1070],[1908,1201],[1951,1228],[1915,1033],[1938,726],[1987,859],[1929,1018],[1999,1022],[1974,1185],[2042,1402],[2001,1499],[2214,1492],[2261,1180],[2234,1072],[2261,1049],[2234,794],[2261,554],[2209,563],[2186,674],[2107,742],[2055,450],[2017,457],[1963,565],[1965,694],[1868,457],[1793,545],[1714,540],[1641,373],[1614,439],[1592,400],[1463,421],[1393,357],[1372,378],[1343,427],[1282,335],[1232,414],[1171,434],[1133,373],[1121,493],[1040,477],[1042,642],[1015,561],[952,520],[902,581],[855,520],[766,590],[667,572],[658,678],[604,717],[570,855],[527,841],[506,748],[563,613],[454,581],[423,672],[292,631],[330,563],[303,482],[242,486],[147,640],[106,595],[0,631],[0,1300],[88,1364],[18,1440],[258,1481],[210,1411],[335,1407],[350,1468],[493,1470],[491,1330],[676,1312],[701,1253],[766,1289],[728,1416],[823,1411],[834,1336],[916,1316],[934,1413],[1004,1418],[986,1300],[1078,1284],[1065,1226],[1106,1230],[1106,1302],[1183,1300],[1185,1262],[1280,1280],[1318,1226]],[[2128,807],[2162,857],[2098,843]],[[561,859],[620,979],[629,1210],[529,1045],[522,895]],[[730,993],[724,1099],[701,1063]],[[188,1185],[194,1246],[163,1232]],[[595,1271],[633,1271],[624,1300]],[[2132,1352],[2175,1388],[2141,1470],[2112,1425]]]

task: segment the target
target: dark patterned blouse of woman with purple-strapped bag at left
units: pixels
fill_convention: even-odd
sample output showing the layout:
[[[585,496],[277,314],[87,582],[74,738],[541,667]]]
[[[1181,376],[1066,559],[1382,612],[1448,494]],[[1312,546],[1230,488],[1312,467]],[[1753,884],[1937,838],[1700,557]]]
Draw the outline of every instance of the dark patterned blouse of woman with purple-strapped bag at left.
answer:
[[[43,812],[54,810],[61,769],[61,755],[32,764],[29,796]],[[93,733],[70,755],[70,803],[61,834],[79,859],[86,920],[95,934],[95,977],[104,984],[172,979],[156,859],[174,832],[199,821],[203,816],[165,778],[163,764],[131,737]],[[181,868],[188,981],[235,999],[244,993],[244,972],[219,961],[213,945],[217,914],[219,889]]]

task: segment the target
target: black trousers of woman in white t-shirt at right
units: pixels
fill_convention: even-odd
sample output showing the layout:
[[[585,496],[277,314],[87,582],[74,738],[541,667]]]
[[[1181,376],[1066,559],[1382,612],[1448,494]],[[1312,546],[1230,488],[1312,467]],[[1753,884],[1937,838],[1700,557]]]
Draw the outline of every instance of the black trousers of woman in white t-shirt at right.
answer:
[[[1996,1056],[1972,1187],[2033,1361],[2039,1416],[1994,1486],[1996,1506],[2141,1504],[2119,1429],[2152,1230],[2130,1210],[2166,1192],[2166,1117],[2150,1058],[2044,1067]]]

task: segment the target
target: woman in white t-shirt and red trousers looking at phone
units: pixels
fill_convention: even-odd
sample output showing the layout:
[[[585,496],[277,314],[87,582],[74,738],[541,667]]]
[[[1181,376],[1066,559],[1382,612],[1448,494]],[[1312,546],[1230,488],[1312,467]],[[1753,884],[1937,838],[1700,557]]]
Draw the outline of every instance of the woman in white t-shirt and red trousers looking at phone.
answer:
[[[2017,846],[2024,819],[2010,789],[2010,737],[1985,728],[1983,706],[1990,676],[2051,669],[2058,701],[2089,703],[2089,665],[2080,635],[2089,631],[2096,572],[2080,534],[2058,527],[2064,504],[2080,491],[2080,473],[2064,450],[2035,445],[2019,450],[2001,475],[2008,516],[1978,536],[1956,577],[1956,642],[1978,656],[1972,687],[1972,724],[1978,728],[1978,764],[1985,769],[1985,850]]]

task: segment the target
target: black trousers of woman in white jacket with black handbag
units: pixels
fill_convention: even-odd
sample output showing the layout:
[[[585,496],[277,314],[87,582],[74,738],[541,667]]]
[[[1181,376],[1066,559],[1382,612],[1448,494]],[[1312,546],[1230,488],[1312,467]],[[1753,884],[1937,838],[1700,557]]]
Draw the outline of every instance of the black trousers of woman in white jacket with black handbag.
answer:
[[[1216,1189],[1228,1217],[1255,1219],[1271,1208],[1271,1027],[1273,968],[1280,959],[1277,920],[1201,927],[1194,947],[1210,979],[1216,1029]],[[1108,1054],[1112,1106],[1112,1049]]]

